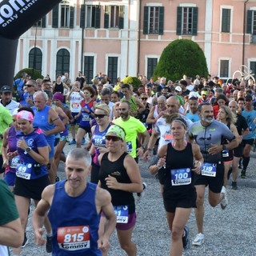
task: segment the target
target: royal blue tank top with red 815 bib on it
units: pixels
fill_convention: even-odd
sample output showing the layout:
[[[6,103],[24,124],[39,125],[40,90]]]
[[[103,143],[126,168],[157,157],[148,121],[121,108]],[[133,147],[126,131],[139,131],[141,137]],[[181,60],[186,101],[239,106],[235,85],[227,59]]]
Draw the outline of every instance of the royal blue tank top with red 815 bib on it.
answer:
[[[98,250],[99,214],[95,205],[97,185],[87,182],[78,197],[66,194],[65,182],[55,183],[48,214],[53,230],[53,255],[94,256]]]

